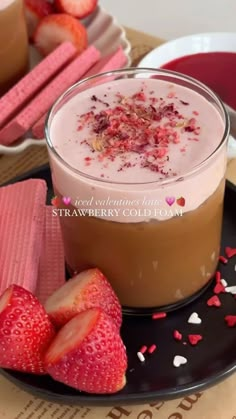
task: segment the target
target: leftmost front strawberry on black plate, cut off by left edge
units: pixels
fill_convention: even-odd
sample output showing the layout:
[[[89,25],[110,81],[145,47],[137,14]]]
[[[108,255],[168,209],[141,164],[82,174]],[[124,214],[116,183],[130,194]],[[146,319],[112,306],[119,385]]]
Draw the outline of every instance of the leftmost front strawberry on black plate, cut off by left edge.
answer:
[[[43,357],[55,336],[40,302],[29,291],[11,285],[0,297],[0,366],[45,374]]]

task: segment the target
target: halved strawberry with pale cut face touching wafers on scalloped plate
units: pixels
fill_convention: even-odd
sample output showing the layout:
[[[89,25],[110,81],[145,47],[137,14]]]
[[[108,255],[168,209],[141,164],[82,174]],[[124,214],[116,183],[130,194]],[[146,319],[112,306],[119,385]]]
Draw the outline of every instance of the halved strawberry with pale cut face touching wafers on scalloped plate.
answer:
[[[76,18],[66,14],[46,16],[34,33],[34,43],[43,55],[48,55],[58,45],[70,41],[81,53],[87,48],[87,31]]]

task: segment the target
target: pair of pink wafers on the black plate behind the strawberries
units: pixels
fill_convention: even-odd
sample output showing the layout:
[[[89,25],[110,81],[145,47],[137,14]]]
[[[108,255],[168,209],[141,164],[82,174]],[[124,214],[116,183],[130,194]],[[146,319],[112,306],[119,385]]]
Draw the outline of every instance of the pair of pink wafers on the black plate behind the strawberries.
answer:
[[[0,295],[17,284],[44,302],[65,282],[59,219],[45,206],[46,189],[41,179],[0,188]]]

